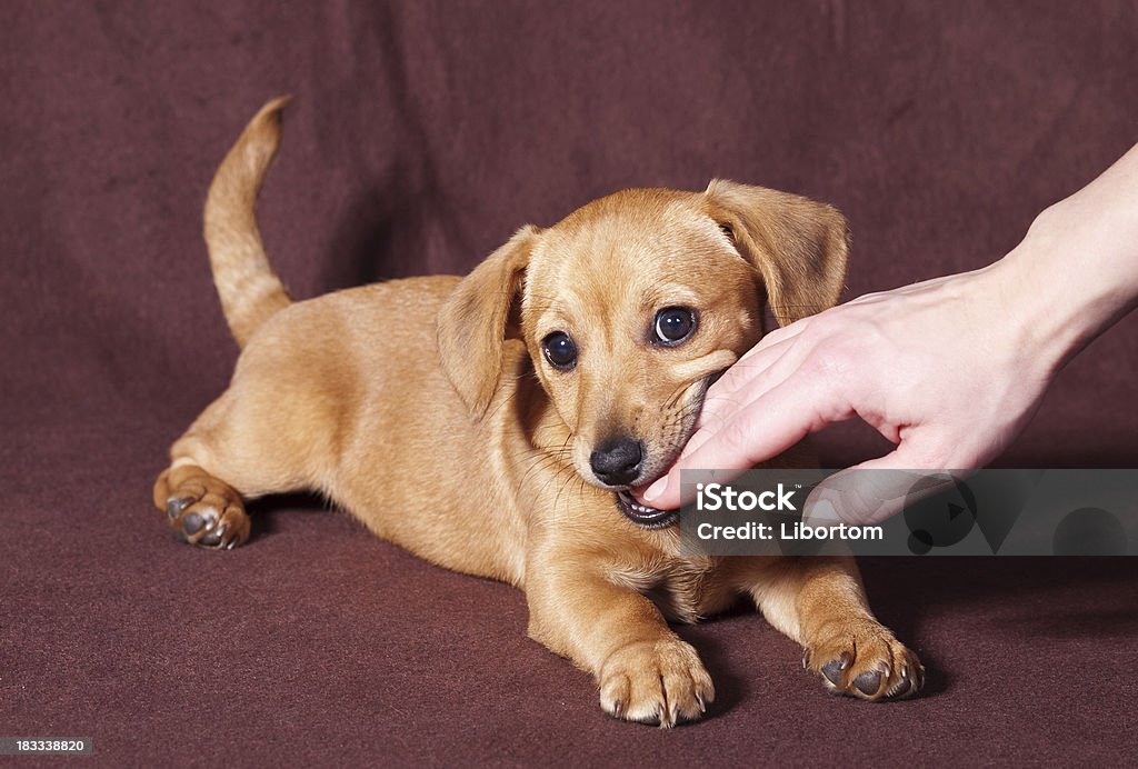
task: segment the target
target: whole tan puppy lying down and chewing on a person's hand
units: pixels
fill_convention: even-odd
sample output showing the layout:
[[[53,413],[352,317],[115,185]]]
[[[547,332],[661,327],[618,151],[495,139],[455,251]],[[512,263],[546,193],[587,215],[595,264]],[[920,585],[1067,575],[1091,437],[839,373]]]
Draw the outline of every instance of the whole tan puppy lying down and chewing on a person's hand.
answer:
[[[633,721],[704,712],[711,679],[666,618],[739,596],[831,689],[920,688],[921,663],[874,619],[852,561],[684,557],[676,513],[627,490],[675,460],[710,378],[762,334],[764,298],[781,323],[836,301],[836,210],[721,181],[626,190],[523,228],[464,279],[292,304],[255,221],[284,102],[253,118],[206,202],[244,352],[155,486],[181,536],[233,547],[249,536],[242,499],[316,489],[429,561],[523,589],[529,634]]]

